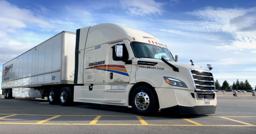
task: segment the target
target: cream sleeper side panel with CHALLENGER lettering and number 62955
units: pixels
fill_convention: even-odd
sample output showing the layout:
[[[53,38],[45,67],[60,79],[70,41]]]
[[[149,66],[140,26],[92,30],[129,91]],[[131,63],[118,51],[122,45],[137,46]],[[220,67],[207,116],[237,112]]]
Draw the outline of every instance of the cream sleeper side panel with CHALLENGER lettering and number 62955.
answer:
[[[81,92],[83,101],[102,104],[102,90],[108,81],[107,72],[101,69],[106,65],[107,45],[101,44],[85,49],[84,57],[84,91]]]

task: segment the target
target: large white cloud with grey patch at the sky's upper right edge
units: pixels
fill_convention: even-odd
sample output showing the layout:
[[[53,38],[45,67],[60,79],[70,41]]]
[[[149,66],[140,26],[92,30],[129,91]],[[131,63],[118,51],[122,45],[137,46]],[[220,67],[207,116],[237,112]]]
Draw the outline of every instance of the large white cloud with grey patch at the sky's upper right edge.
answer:
[[[234,41],[230,44],[216,46],[216,48],[223,50],[256,48],[256,8],[229,9],[205,7],[188,12],[188,14],[203,19],[198,23],[197,28],[203,27],[205,29],[210,27],[209,29],[211,29],[214,28],[214,25],[217,25],[218,32],[228,33],[233,36]]]

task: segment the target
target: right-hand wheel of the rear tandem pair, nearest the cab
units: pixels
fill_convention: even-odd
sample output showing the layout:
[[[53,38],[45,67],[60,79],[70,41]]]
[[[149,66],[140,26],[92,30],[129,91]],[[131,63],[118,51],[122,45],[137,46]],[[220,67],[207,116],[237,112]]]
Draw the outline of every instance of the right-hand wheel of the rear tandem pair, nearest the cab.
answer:
[[[71,90],[69,87],[64,87],[61,89],[60,92],[60,103],[63,106],[69,106],[73,103],[72,97],[71,97]]]

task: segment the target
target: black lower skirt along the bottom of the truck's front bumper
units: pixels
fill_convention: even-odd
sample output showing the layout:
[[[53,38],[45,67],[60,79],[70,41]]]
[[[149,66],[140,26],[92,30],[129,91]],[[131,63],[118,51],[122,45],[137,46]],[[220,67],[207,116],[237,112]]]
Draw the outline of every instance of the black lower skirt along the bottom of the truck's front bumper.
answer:
[[[171,115],[204,115],[204,114],[213,114],[216,111],[216,106],[172,106],[168,108],[161,109],[161,112]]]

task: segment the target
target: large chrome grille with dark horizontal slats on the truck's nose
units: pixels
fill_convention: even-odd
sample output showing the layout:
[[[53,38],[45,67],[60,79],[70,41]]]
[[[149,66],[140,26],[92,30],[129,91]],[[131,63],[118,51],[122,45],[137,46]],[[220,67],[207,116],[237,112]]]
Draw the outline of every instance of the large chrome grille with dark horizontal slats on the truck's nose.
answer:
[[[212,73],[205,69],[190,69],[196,91],[215,91]]]

